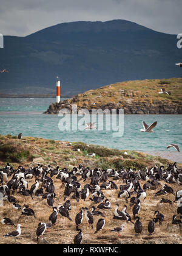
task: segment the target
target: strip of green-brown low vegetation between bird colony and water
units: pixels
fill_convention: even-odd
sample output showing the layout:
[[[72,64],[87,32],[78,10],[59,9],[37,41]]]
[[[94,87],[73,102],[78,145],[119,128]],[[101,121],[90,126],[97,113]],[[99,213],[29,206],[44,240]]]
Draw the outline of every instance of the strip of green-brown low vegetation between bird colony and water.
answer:
[[[89,153],[95,153],[89,157]],[[145,168],[170,160],[154,157],[137,151],[121,151],[83,142],[69,144],[64,141],[46,140],[44,138],[23,137],[21,140],[12,135],[0,135],[0,165],[11,163],[15,168],[41,163],[52,164],[61,168],[73,168],[80,163],[91,168]]]

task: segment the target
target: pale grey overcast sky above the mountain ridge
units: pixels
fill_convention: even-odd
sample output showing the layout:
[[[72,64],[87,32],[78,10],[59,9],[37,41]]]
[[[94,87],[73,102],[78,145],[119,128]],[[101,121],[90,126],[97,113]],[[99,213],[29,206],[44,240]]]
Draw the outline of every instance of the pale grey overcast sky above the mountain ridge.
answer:
[[[70,21],[129,20],[182,33],[181,0],[0,0],[0,33],[25,36]]]

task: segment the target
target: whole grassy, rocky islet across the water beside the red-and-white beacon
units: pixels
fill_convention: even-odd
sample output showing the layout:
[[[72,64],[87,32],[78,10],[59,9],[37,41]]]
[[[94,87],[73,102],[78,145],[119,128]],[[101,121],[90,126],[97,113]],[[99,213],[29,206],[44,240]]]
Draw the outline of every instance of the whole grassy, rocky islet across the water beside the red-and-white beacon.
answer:
[[[62,108],[72,112],[72,105],[77,109],[124,109],[125,114],[182,114],[181,97],[182,79],[136,80],[116,83],[86,91],[71,99],[53,103],[44,113],[58,114]],[[160,94],[161,88],[171,94]]]

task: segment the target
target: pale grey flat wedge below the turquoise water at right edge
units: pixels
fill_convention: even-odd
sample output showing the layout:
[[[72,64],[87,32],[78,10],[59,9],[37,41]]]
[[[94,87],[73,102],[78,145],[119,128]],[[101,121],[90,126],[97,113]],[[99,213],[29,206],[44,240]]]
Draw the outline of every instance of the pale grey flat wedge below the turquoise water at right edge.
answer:
[[[144,153],[182,163],[182,153],[178,151],[145,151]]]

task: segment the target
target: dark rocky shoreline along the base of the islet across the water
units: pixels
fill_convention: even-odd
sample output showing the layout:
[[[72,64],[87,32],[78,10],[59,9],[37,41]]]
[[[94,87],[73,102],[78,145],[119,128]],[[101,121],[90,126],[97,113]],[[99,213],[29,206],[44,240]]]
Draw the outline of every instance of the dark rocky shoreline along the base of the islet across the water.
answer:
[[[89,103],[90,101],[90,94],[79,94],[72,99],[68,99],[67,101],[61,101],[58,103],[52,103],[47,111],[44,113],[47,114],[55,114],[59,113],[59,110],[63,108],[67,108],[70,112],[72,112],[72,104],[77,104],[78,110],[81,108],[87,108],[89,112],[92,112],[92,108],[95,109],[102,109],[105,110],[106,108],[110,110],[112,109],[124,109],[124,114],[181,114],[182,113],[182,102],[180,101],[168,101],[167,99],[157,100],[157,99],[150,99],[147,97],[140,97],[136,98],[135,93],[123,93],[122,101],[120,100],[120,96],[118,94],[118,99],[110,102],[106,102],[106,104],[103,104],[104,101],[100,101],[99,98],[104,98],[106,96],[112,97],[113,95],[117,94],[115,91],[106,93],[107,91],[103,91],[101,93],[101,96],[95,96],[94,99],[94,106],[92,103]],[[83,99],[84,98],[84,99]],[[116,95],[117,98],[117,95]],[[142,98],[142,99],[141,99]],[[87,104],[88,103],[88,104]]]

